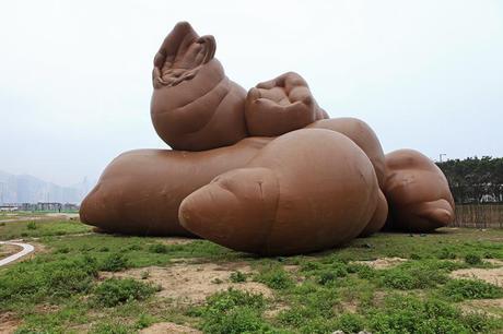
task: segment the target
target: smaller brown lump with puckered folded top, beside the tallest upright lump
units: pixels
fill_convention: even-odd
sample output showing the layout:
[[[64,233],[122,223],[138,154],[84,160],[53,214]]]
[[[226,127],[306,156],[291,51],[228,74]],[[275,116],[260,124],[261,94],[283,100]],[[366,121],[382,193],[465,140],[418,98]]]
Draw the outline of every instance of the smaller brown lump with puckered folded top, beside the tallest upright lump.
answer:
[[[305,80],[295,72],[257,84],[245,104],[250,135],[277,136],[328,118],[311,94]]]

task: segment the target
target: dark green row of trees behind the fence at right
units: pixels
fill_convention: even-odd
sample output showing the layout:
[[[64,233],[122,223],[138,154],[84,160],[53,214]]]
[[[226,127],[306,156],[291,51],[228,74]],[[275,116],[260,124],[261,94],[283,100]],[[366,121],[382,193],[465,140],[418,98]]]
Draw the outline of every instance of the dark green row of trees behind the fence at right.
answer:
[[[436,163],[456,203],[503,202],[503,158],[483,156]]]

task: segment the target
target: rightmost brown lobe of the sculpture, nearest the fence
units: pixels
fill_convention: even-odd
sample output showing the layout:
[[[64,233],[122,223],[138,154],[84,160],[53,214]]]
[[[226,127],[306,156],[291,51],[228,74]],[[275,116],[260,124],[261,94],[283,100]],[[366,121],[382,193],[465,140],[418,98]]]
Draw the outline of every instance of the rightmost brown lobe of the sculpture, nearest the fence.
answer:
[[[442,170],[413,150],[386,154],[387,228],[428,232],[454,220],[454,200]]]

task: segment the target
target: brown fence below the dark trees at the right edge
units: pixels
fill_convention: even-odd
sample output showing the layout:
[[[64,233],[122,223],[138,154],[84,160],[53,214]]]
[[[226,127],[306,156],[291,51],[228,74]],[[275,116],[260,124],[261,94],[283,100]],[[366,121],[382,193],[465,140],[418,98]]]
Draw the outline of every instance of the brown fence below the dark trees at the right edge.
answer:
[[[503,204],[456,204],[456,227],[503,228]]]

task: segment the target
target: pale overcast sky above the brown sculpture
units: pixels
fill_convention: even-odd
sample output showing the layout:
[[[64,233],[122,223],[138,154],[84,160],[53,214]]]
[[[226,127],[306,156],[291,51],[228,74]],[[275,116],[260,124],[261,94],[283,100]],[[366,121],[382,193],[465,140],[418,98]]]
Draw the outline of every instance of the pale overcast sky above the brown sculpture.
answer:
[[[0,4],[0,170],[66,186],[166,147],[152,59],[184,20],[245,88],[299,72],[385,152],[503,156],[502,1],[34,0]]]

